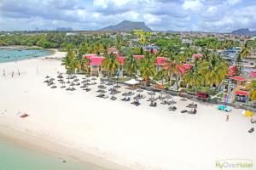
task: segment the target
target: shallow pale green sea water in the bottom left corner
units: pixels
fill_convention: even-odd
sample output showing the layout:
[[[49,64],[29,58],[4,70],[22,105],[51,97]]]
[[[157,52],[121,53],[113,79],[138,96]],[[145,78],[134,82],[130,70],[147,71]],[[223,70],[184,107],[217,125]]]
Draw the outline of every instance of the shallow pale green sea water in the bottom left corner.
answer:
[[[0,138],[0,170],[98,170],[79,161],[64,160]]]

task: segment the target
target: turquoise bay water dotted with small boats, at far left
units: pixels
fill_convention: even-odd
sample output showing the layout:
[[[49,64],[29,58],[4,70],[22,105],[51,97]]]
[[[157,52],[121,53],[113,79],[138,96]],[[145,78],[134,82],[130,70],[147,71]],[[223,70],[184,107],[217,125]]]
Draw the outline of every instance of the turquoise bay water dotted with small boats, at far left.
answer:
[[[32,59],[52,54],[49,50],[0,48],[0,63],[22,59]]]

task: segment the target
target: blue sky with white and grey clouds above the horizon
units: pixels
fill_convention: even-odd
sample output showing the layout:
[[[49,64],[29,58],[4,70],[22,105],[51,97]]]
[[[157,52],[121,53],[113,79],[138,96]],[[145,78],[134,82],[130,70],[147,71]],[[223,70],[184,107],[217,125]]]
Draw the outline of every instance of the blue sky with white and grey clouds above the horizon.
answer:
[[[154,31],[256,30],[256,0],[0,0],[0,31],[90,31],[123,20]]]

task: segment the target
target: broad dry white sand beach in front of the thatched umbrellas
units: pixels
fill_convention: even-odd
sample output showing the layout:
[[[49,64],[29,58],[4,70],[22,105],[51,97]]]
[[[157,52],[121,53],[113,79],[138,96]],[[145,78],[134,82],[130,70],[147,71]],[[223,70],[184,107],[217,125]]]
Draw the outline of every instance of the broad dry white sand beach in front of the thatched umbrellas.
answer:
[[[64,55],[57,52],[54,57]],[[88,93],[80,88],[73,92],[49,88],[44,77],[56,79],[57,71],[65,69],[55,59],[0,64],[0,133],[6,128],[26,133],[124,169],[208,170],[217,169],[215,163],[222,159],[256,162],[256,133],[247,133],[255,125],[241,110],[233,109],[230,122],[225,122],[226,113],[218,111],[217,105],[198,103],[196,115],[181,114],[190,101],[178,97],[177,111],[172,112],[159,101],[152,108],[146,99],[138,107],[120,101],[120,94],[115,101],[96,98],[96,86]],[[19,111],[29,116],[20,118]],[[75,152],[67,156],[86,159]]]

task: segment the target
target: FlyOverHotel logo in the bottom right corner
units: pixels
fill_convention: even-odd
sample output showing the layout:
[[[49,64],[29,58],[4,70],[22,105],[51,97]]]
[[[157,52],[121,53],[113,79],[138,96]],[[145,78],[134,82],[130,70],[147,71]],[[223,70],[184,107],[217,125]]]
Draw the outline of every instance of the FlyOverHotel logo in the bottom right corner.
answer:
[[[247,159],[225,159],[218,160],[215,163],[217,169],[228,169],[228,170],[253,170],[253,161]]]

